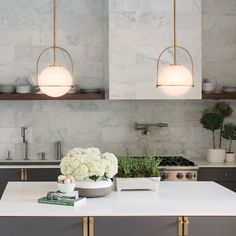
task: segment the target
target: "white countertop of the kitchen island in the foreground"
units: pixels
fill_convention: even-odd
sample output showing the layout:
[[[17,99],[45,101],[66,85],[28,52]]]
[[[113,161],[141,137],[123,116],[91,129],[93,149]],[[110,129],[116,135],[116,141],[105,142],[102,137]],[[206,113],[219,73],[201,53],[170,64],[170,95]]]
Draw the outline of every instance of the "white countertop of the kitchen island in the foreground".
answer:
[[[161,182],[159,192],[112,192],[78,207],[44,205],[37,199],[54,182],[9,182],[0,216],[236,216],[236,193],[214,182]]]

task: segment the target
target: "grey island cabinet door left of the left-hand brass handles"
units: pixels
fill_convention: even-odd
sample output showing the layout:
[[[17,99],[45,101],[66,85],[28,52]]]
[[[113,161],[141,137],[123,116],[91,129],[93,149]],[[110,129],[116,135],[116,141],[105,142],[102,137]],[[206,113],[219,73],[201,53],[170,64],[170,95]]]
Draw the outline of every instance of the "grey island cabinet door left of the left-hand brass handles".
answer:
[[[82,217],[0,217],[4,236],[83,236]]]

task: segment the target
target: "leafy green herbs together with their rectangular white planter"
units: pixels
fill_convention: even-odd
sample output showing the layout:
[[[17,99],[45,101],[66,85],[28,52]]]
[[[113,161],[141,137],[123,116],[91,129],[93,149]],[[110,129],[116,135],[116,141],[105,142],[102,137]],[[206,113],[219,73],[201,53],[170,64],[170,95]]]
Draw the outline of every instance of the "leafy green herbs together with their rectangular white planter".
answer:
[[[118,157],[118,174],[114,178],[116,190],[157,191],[161,180],[159,164],[154,157]]]

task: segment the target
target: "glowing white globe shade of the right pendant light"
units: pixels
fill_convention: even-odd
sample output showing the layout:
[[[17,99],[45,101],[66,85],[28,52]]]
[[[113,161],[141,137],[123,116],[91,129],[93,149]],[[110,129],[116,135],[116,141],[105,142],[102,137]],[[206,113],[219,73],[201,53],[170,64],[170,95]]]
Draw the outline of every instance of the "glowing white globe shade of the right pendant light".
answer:
[[[158,85],[161,85],[160,88],[164,93],[171,96],[180,96],[191,89],[193,75],[183,65],[168,65],[160,71]]]

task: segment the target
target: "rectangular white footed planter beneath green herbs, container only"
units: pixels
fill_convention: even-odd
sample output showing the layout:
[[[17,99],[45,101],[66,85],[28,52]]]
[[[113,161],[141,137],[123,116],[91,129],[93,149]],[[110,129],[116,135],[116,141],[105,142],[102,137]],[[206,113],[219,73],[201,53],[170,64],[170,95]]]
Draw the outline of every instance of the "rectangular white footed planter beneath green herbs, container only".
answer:
[[[115,178],[114,183],[117,191],[122,190],[153,190],[159,188],[161,178]]]

